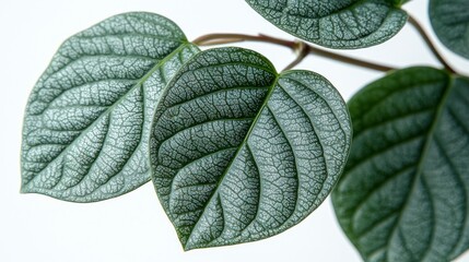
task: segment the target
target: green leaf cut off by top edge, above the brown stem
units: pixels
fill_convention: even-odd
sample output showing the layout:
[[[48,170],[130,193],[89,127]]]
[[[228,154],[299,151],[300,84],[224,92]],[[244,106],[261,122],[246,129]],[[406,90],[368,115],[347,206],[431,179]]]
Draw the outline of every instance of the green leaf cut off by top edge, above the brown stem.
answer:
[[[407,22],[400,0],[286,1],[246,0],[279,28],[304,40],[336,49],[378,45]]]

